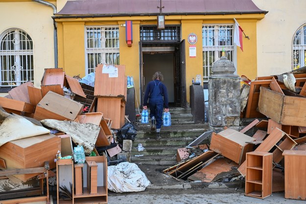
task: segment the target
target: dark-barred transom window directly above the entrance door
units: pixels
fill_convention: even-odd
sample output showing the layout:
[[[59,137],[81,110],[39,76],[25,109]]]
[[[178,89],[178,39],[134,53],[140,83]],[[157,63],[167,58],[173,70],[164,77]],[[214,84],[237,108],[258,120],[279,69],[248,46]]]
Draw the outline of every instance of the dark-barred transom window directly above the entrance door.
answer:
[[[141,26],[140,39],[146,43],[180,42],[180,26],[165,26],[164,30],[158,30],[157,26]]]

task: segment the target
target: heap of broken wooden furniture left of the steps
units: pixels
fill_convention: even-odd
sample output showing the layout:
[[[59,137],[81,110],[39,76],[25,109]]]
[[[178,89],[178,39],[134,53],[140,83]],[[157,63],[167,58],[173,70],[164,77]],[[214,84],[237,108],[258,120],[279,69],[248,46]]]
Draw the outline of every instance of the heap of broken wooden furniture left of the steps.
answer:
[[[94,87],[62,69],[45,69],[40,88],[26,82],[0,99],[0,203],[49,202],[49,177],[57,183],[57,203],[107,203],[108,162],[121,149],[99,154],[96,147],[116,143],[112,129],[124,125],[127,92],[125,67],[108,68],[96,67]],[[76,146],[85,163],[73,161]]]

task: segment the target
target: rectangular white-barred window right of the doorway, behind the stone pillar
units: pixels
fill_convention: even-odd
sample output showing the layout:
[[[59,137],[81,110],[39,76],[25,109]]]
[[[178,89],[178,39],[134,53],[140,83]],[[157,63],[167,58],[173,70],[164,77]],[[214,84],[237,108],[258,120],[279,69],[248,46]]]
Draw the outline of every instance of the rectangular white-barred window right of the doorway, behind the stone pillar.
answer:
[[[208,82],[212,65],[221,56],[234,62],[234,25],[203,25],[203,82]]]

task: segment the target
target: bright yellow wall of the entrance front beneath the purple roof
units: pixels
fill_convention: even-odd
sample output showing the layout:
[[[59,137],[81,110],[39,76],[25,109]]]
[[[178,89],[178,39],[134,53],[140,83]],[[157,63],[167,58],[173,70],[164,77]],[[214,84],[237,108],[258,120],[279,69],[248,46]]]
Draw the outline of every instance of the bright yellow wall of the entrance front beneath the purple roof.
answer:
[[[197,74],[203,77],[203,55],[202,55],[202,25],[203,24],[234,24],[236,18],[245,33],[250,37],[243,39],[244,51],[236,49],[236,69],[239,76],[246,75],[249,78],[257,77],[257,21],[264,18],[264,14],[246,15],[211,15],[211,16],[166,16],[166,25],[181,24],[181,37],[185,39],[186,47],[186,91],[189,102],[189,86],[192,78]],[[126,20],[133,21],[133,43],[127,47],[125,42]],[[98,18],[73,18],[56,19],[58,22],[59,43],[59,67],[63,67],[70,75],[85,75],[85,45],[84,26],[119,26],[119,52],[120,64],[125,65],[126,76],[133,76],[136,94],[140,99],[140,25],[156,25],[156,16],[133,16],[133,17],[98,17]],[[198,37],[196,46],[196,57],[189,57],[188,34],[195,33]],[[140,101],[139,101],[140,102]]]

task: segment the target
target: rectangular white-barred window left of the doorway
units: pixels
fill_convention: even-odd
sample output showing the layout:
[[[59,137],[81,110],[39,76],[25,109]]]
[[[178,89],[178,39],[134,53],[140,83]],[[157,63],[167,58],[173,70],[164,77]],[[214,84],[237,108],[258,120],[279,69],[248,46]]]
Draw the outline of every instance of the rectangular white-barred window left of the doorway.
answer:
[[[119,64],[119,27],[85,27],[86,74],[94,72],[97,64]]]

